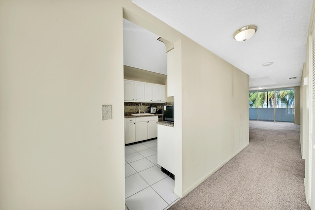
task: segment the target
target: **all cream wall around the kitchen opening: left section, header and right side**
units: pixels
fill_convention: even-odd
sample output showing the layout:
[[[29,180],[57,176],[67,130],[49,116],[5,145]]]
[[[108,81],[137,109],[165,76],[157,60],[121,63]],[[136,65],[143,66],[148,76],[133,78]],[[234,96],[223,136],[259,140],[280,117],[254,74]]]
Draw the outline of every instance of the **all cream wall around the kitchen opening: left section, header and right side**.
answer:
[[[123,12],[178,50],[177,193],[248,144],[248,75],[130,0],[2,0],[0,209],[125,208]]]

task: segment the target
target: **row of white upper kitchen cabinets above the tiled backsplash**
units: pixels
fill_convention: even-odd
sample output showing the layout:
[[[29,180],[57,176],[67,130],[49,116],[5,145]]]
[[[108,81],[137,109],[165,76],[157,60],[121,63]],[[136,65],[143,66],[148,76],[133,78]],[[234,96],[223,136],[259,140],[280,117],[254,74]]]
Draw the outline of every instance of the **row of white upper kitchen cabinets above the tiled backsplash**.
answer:
[[[126,102],[165,102],[165,85],[124,80]]]

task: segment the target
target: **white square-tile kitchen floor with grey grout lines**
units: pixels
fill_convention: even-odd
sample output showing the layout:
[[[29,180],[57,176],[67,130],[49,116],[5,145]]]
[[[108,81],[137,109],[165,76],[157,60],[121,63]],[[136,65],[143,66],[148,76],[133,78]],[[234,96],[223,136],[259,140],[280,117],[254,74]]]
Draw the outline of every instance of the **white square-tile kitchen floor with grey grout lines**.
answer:
[[[174,180],[158,165],[157,142],[155,139],[125,146],[125,196],[129,210],[167,210],[179,200],[173,193]]]

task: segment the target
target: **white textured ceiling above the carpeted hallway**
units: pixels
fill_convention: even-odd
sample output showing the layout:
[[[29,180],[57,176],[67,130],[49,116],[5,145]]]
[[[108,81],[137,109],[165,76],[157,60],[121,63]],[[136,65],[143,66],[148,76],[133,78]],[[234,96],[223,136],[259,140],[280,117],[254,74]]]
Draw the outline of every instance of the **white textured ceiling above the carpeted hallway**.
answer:
[[[313,0],[132,2],[249,74],[252,90],[300,85]],[[233,33],[249,24],[258,26],[254,36],[234,40]],[[273,64],[264,67],[265,62]]]

